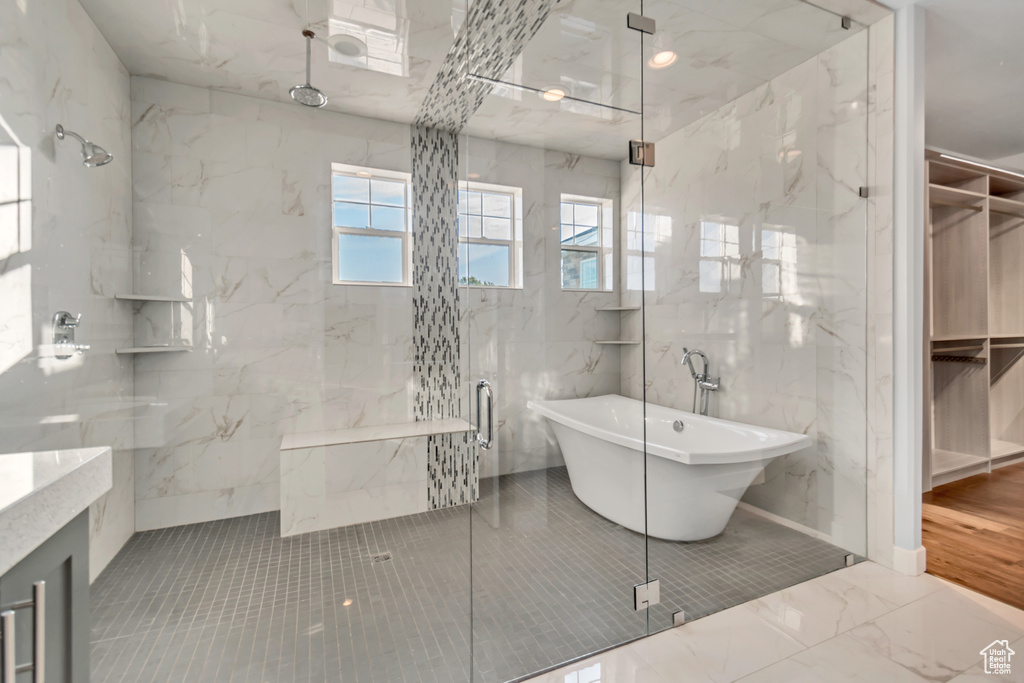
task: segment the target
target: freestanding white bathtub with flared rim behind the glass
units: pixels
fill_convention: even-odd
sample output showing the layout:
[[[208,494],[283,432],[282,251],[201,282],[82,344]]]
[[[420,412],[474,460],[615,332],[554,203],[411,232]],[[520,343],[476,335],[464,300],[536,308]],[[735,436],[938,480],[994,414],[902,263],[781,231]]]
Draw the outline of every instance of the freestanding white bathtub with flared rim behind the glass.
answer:
[[[721,533],[765,465],[811,444],[806,434],[648,403],[645,498],[643,401],[609,395],[528,407],[551,421],[572,492],[587,507],[668,541]]]

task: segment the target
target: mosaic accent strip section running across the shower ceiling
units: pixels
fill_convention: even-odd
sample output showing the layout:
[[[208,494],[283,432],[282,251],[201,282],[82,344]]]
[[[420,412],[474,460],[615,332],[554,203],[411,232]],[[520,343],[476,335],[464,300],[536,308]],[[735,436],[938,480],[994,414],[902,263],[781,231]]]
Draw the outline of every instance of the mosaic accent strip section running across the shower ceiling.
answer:
[[[458,132],[548,18],[555,0],[477,0],[430,84],[416,124]]]

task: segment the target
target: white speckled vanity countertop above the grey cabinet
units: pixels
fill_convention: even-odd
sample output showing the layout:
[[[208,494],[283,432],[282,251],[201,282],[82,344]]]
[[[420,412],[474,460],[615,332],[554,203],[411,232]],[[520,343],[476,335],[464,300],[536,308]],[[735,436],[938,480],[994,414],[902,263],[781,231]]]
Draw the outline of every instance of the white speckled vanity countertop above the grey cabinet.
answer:
[[[111,485],[108,446],[0,455],[0,574]]]

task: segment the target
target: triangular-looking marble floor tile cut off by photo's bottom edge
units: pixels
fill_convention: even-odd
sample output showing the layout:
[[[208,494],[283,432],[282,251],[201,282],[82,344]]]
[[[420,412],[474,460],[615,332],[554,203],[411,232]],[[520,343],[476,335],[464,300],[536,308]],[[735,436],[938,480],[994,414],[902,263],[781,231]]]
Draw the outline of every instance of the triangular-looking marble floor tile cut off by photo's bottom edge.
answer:
[[[924,683],[914,674],[852,638],[839,636],[798,652],[759,672],[739,679],[741,683]]]

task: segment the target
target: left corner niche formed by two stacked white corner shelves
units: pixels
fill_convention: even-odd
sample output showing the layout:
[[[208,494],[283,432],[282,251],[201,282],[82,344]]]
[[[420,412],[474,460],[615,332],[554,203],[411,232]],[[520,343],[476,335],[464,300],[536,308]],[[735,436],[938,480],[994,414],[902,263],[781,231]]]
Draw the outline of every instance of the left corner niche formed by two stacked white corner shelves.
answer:
[[[132,345],[116,353],[170,353],[193,348],[191,299],[153,294],[116,294],[132,307]]]

